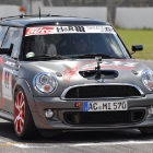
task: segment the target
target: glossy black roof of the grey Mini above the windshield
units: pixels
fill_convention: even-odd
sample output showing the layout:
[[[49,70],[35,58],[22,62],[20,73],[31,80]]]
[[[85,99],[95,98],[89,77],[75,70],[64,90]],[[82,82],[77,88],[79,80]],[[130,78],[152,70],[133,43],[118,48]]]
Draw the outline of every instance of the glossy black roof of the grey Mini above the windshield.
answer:
[[[15,17],[4,19],[1,25],[9,26],[33,26],[33,25],[109,25],[108,22],[83,19],[83,17],[66,17],[66,16],[40,16],[40,17]]]

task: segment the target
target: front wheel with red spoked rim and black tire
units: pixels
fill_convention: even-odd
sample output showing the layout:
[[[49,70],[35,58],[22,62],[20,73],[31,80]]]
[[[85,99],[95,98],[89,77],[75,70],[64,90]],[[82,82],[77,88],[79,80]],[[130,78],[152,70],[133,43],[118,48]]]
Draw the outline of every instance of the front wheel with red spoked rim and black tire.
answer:
[[[19,87],[14,96],[14,130],[20,139],[35,138],[38,133],[22,87]]]

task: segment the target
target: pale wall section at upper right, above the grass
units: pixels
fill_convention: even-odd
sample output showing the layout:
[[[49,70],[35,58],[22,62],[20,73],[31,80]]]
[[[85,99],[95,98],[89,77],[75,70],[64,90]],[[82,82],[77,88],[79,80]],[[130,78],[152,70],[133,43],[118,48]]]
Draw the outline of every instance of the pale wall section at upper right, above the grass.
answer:
[[[116,8],[115,25],[122,28],[153,28],[153,8]]]

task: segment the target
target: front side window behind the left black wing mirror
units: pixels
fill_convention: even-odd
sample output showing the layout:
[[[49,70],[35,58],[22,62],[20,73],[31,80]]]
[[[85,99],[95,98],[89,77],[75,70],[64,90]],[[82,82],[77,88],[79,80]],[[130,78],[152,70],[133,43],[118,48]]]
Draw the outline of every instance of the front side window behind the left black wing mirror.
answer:
[[[2,44],[3,48],[9,48],[11,44],[14,45],[11,55],[11,57],[13,58],[19,58],[22,36],[23,36],[23,28],[10,27],[3,40]]]

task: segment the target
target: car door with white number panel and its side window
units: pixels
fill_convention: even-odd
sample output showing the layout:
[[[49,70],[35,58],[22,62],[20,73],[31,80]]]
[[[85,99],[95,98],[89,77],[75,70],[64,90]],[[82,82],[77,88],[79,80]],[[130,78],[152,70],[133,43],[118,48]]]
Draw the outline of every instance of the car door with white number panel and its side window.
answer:
[[[8,33],[4,37],[1,48],[10,48],[10,45],[13,45],[11,55],[1,55],[3,61],[3,68],[0,69],[0,74],[2,75],[1,93],[3,106],[1,109],[13,113],[14,104],[13,104],[13,86],[16,82],[16,71],[14,73],[14,69],[16,66],[19,67],[19,55],[21,49],[21,40],[23,36],[22,27],[9,27]]]

